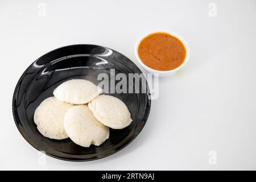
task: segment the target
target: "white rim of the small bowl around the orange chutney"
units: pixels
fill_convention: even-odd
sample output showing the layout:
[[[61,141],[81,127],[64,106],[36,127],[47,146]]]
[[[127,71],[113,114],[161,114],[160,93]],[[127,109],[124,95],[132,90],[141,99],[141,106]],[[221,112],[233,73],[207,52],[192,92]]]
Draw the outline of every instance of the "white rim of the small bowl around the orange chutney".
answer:
[[[184,45],[184,47],[186,49],[186,56],[185,56],[185,59],[184,59],[183,63],[181,65],[179,65],[179,67],[177,67],[175,69],[170,69],[170,70],[167,70],[167,71],[160,71],[160,70],[157,70],[157,69],[150,68],[146,64],[143,63],[143,61],[141,60],[141,58],[138,55],[139,43],[141,43],[141,41],[144,38],[146,38],[148,35],[156,34],[156,33],[167,33],[167,34],[170,34],[171,36],[174,36],[175,38],[179,39],[181,41],[181,43],[183,43],[183,45]],[[136,59],[138,60],[139,64],[142,65],[142,67],[144,69],[146,69],[148,72],[159,73],[159,74],[161,74],[161,73],[172,73],[172,72],[178,71],[179,69],[184,67],[184,65],[188,62],[188,59],[189,59],[189,56],[190,56],[190,48],[189,48],[189,45],[188,45],[187,41],[181,35],[177,34],[176,32],[174,32],[174,31],[167,31],[167,30],[149,31],[149,32],[146,32],[145,34],[139,36],[139,38],[137,39],[137,41],[135,43],[134,52],[135,52]]]

